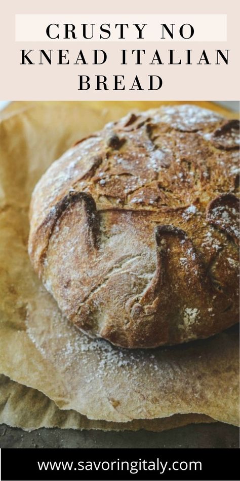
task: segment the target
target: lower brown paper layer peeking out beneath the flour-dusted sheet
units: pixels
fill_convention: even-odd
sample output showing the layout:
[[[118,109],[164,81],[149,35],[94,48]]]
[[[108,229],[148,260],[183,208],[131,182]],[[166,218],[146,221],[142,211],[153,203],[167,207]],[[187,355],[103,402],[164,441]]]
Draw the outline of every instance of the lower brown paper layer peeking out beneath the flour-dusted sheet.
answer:
[[[128,423],[90,420],[72,409],[59,409],[43,393],[11,381],[0,374],[0,424],[20,427],[25,431],[38,428],[101,429],[102,431],[165,431],[190,423],[212,423],[201,414],[175,414],[164,419],[135,419]]]

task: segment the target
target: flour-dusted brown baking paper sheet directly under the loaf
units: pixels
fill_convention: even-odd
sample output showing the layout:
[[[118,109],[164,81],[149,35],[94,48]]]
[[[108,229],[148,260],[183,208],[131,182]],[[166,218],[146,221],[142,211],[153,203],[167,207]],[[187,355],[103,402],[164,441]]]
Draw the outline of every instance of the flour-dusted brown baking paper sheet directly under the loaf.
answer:
[[[113,347],[61,316],[28,259],[28,205],[37,180],[74,142],[132,108],[133,102],[20,102],[2,116],[0,372],[89,419],[126,423],[199,413],[237,424],[234,328],[172,348]]]

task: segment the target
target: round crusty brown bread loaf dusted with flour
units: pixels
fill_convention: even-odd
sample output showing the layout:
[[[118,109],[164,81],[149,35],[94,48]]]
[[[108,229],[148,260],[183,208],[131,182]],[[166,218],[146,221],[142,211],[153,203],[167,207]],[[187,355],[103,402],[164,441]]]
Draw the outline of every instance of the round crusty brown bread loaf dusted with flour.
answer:
[[[117,346],[238,321],[239,122],[192,105],[130,113],[36,185],[29,255],[63,314]]]

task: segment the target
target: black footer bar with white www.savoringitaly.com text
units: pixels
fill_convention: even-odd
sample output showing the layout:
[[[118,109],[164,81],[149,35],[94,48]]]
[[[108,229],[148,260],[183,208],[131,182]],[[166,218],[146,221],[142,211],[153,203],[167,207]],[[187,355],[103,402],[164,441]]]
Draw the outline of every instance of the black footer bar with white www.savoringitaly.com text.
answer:
[[[2,449],[2,481],[235,480],[237,449]]]

